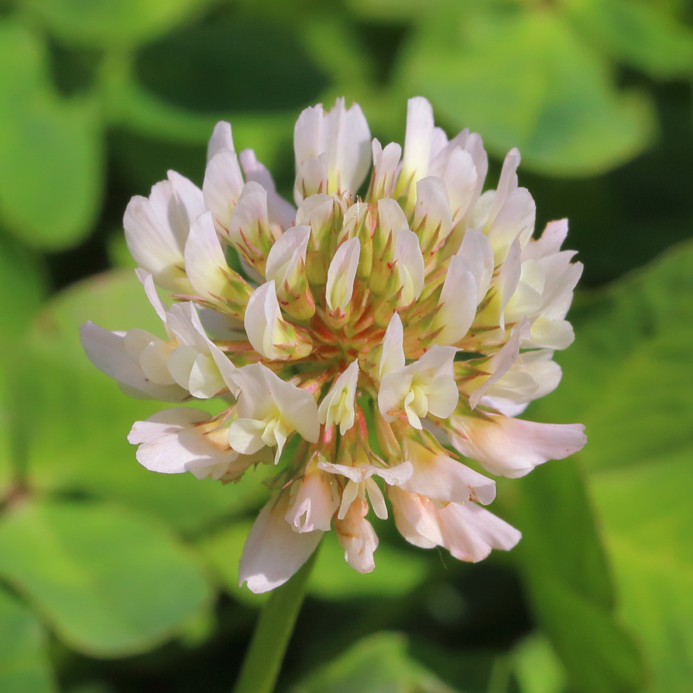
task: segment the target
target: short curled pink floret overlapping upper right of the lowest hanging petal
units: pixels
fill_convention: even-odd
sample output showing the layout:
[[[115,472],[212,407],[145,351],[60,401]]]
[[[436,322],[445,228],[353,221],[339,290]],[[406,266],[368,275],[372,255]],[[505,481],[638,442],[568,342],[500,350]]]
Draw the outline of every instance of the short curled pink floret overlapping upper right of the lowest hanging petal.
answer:
[[[286,511],[286,521],[297,532],[313,532],[315,529],[328,532],[332,516],[340,505],[340,497],[331,478],[313,468],[296,485],[298,488]]]

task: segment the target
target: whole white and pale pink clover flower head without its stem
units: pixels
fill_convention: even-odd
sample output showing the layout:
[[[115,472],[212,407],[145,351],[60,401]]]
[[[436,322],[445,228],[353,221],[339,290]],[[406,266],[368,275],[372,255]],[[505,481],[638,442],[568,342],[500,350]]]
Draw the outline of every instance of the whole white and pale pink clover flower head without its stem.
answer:
[[[460,456],[520,477],[586,441],[579,424],[515,418],[558,385],[552,356],[573,339],[567,222],[532,238],[517,150],[482,192],[480,136],[448,140],[423,98],[408,103],[403,150],[371,141],[342,99],[306,109],[294,142],[297,208],[218,123],[201,190],[170,172],[125,211],[166,336],[88,323],[82,342],[127,394],[186,403],[134,424],[137,459],[221,482],[275,466],[240,561],[257,593],[331,527],[349,564],[373,570],[367,517],[387,518],[386,498],[414,545],[463,561],[510,549],[520,533],[483,507],[495,483]],[[211,397],[214,416],[187,406]]]

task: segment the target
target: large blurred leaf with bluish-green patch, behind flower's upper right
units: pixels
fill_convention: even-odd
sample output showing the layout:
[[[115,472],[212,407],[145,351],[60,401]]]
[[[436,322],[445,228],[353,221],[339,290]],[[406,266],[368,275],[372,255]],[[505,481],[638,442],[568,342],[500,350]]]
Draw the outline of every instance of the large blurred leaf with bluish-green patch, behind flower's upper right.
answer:
[[[446,3],[416,28],[399,74],[447,123],[481,132],[496,155],[519,147],[542,173],[608,170],[653,131],[649,101],[617,91],[597,54],[539,3]]]

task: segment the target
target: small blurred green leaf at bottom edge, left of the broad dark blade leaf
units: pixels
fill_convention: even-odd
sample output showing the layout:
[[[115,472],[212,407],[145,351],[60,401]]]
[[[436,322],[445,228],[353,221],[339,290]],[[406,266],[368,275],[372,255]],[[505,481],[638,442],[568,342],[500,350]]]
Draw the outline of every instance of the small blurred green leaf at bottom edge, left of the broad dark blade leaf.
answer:
[[[514,649],[513,670],[521,693],[563,693],[565,671],[550,643],[529,635]]]

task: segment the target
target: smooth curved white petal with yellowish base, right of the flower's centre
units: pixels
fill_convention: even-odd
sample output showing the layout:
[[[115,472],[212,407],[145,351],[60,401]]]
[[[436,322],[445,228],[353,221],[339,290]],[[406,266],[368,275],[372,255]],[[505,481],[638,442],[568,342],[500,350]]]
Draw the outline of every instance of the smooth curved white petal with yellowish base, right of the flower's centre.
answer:
[[[456,344],[468,333],[476,315],[478,296],[477,279],[468,261],[453,255],[435,316],[435,327],[441,328],[437,344]]]

